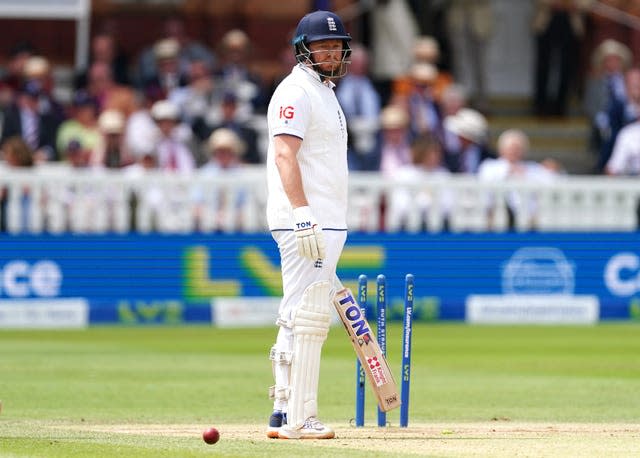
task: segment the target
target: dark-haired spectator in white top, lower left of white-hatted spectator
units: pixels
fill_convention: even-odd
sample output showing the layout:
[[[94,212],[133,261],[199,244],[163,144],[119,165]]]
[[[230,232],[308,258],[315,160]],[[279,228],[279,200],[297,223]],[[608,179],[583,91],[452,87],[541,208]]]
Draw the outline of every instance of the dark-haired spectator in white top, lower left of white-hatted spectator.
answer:
[[[411,164],[398,168],[392,176],[395,184],[388,203],[385,229],[391,232],[440,230],[447,226],[451,194],[442,188],[438,192],[438,188],[430,185],[434,180],[450,175],[442,162],[442,145],[432,135],[417,137],[411,143],[411,154]],[[444,214],[439,227],[430,227],[429,211],[434,207],[438,215]]]

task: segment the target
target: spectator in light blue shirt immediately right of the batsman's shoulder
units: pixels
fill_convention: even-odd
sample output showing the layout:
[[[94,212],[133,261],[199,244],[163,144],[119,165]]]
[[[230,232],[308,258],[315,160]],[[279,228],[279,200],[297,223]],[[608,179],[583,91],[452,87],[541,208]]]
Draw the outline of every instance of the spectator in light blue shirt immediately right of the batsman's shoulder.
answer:
[[[336,97],[347,118],[350,170],[372,170],[376,133],[379,129],[380,96],[368,76],[369,53],[360,44],[351,45],[351,65],[338,83]]]

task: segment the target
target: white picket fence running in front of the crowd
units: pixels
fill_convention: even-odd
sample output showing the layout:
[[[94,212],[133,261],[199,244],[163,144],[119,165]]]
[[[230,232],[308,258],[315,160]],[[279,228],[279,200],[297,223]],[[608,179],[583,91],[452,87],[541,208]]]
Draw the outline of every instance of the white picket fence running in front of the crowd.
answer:
[[[6,231],[19,233],[265,232],[262,166],[222,176],[41,167],[0,172]],[[550,184],[482,183],[474,177],[350,177],[349,227],[387,232],[634,231],[640,182],[567,176]]]

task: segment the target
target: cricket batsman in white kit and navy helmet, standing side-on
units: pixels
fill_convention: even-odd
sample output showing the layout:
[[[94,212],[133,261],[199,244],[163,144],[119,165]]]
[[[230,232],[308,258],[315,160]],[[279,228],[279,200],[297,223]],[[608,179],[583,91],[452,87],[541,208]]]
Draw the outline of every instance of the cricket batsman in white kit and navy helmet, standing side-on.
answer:
[[[267,436],[332,439],[318,418],[320,355],[341,288],[336,266],[347,237],[347,125],[334,81],[351,53],[340,18],[304,16],[297,65],[276,88],[267,113],[267,220],[280,252],[283,297],[275,345],[275,385]]]

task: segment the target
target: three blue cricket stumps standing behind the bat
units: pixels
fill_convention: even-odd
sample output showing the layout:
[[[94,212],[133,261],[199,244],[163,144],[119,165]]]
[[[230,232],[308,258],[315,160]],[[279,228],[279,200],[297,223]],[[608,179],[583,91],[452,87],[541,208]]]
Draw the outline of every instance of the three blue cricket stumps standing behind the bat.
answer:
[[[358,277],[358,304],[366,316],[367,309],[367,276]],[[400,405],[400,426],[409,426],[409,389],[411,384],[411,334],[413,331],[413,286],[412,274],[405,276],[404,284],[404,319],[402,327],[402,388]],[[383,354],[387,354],[387,280],[384,275],[376,278],[376,312],[377,339]],[[365,373],[360,361],[356,358],[356,426],[364,426],[365,406]],[[387,414],[378,407],[378,426],[387,425]]]

